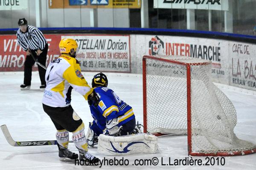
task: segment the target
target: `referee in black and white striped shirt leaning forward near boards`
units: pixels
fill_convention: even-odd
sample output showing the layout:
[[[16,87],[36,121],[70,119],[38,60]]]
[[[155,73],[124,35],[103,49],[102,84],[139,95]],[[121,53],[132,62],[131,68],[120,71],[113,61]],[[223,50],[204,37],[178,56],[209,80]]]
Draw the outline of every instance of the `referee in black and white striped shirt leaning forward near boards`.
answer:
[[[48,44],[42,34],[42,32],[34,27],[28,26],[28,22],[25,18],[21,18],[18,21],[19,29],[17,31],[17,42],[26,51],[26,60],[24,63],[24,82],[20,85],[20,90],[29,90],[31,85],[32,77],[32,67],[35,64],[31,53],[40,62],[45,66]],[[45,72],[46,70],[38,65],[39,76],[41,80],[40,90],[44,91],[46,87],[45,82]]]

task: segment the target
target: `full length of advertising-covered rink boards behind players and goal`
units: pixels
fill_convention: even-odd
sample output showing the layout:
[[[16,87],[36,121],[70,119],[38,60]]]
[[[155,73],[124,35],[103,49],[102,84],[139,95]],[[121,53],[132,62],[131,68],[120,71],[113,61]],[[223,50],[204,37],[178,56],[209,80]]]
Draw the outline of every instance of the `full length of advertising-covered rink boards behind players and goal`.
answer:
[[[60,56],[61,38],[79,44],[82,71],[142,74],[144,55],[179,55],[212,61],[214,82],[256,91],[256,44],[198,37],[141,34],[45,34],[47,65]],[[15,35],[0,35],[0,71],[23,71],[25,52]],[[35,65],[35,67],[37,67]],[[34,69],[34,71],[37,69]]]

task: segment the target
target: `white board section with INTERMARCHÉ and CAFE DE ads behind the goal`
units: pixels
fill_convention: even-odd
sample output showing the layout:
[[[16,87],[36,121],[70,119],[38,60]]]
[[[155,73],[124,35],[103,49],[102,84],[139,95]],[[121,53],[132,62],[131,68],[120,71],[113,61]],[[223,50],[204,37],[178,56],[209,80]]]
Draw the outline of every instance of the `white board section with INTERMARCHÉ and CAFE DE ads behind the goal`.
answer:
[[[256,45],[228,40],[131,35],[131,72],[142,73],[142,57],[157,54],[196,57],[212,61],[214,82],[256,90]],[[160,45],[159,45],[160,44]],[[156,48],[155,48],[156,47]],[[152,52],[151,52],[152,54]]]

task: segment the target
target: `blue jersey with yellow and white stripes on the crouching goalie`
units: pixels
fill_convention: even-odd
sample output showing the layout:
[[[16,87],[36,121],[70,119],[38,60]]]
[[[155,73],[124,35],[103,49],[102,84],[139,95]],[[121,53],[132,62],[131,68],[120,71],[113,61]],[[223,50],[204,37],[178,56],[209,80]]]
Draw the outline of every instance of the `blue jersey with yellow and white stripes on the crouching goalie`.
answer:
[[[119,99],[110,88],[96,87],[94,91],[99,95],[100,101],[97,107],[91,105],[90,111],[94,122],[102,130],[106,127],[106,119],[111,120],[118,117],[118,126],[121,126],[135,118],[131,106]]]

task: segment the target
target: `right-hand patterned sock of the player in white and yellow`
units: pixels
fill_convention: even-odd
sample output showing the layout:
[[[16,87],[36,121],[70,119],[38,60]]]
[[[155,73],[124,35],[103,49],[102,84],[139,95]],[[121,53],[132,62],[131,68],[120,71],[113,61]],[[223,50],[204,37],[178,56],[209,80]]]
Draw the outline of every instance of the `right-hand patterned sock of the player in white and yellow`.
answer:
[[[78,148],[79,152],[84,151],[87,152],[87,143],[84,134],[84,123],[82,123],[75,131],[72,132],[73,142],[75,143],[76,147]]]

